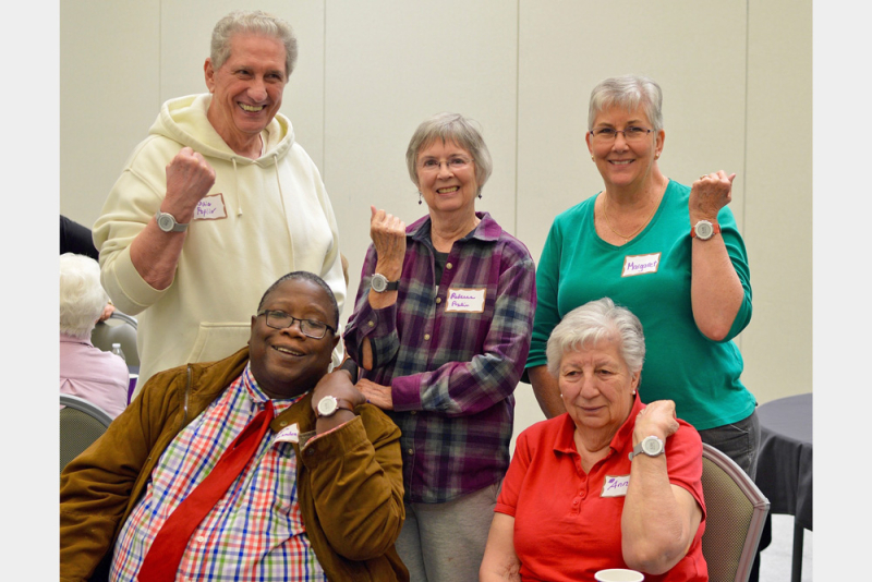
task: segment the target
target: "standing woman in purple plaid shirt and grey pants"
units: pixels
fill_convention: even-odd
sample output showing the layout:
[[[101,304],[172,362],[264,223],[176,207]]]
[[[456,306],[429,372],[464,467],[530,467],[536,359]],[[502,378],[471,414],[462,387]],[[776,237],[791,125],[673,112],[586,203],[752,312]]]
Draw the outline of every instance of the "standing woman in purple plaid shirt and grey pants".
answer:
[[[492,162],[470,120],[440,113],[405,154],[427,216],[407,228],[372,207],[344,334],[358,387],[402,431],[411,580],[477,580],[536,306],[529,251],[475,201]]]

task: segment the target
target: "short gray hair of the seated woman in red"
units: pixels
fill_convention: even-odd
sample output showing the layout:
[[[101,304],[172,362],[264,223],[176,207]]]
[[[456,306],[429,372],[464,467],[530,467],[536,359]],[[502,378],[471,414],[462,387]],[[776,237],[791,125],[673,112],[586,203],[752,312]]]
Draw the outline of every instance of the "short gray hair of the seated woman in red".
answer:
[[[619,344],[620,355],[630,373],[642,371],[645,362],[642,323],[627,307],[603,298],[576,307],[554,328],[545,349],[548,372],[557,377],[565,353],[593,347],[601,341]]]

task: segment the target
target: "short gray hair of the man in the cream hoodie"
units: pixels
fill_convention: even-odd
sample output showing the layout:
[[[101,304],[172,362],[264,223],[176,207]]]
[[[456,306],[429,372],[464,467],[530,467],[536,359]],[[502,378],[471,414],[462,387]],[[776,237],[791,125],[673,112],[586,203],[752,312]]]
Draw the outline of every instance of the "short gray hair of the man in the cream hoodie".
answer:
[[[230,57],[230,39],[235,34],[267,36],[284,45],[284,74],[291,76],[296,64],[296,37],[293,28],[283,20],[261,10],[234,10],[215,25],[209,58],[216,71]]]

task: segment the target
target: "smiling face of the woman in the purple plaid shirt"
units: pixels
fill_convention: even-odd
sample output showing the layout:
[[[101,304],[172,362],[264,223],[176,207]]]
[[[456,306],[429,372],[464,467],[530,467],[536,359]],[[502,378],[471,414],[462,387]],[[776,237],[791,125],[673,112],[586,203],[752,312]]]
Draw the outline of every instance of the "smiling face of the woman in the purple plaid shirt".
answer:
[[[475,215],[479,183],[475,162],[467,149],[436,140],[421,148],[415,168],[417,187],[431,213]]]

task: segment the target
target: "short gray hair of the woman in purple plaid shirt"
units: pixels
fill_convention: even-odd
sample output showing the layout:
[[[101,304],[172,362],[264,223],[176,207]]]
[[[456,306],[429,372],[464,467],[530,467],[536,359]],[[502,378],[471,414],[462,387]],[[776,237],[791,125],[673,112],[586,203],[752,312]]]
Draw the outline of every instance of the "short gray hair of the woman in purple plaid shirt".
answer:
[[[412,134],[405,150],[405,165],[415,186],[419,184],[417,155],[436,140],[441,140],[443,143],[455,142],[470,153],[475,163],[475,182],[481,194],[484,183],[494,170],[494,162],[491,161],[491,151],[487,150],[484,137],[476,125],[476,122],[460,113],[436,113],[424,120]]]

